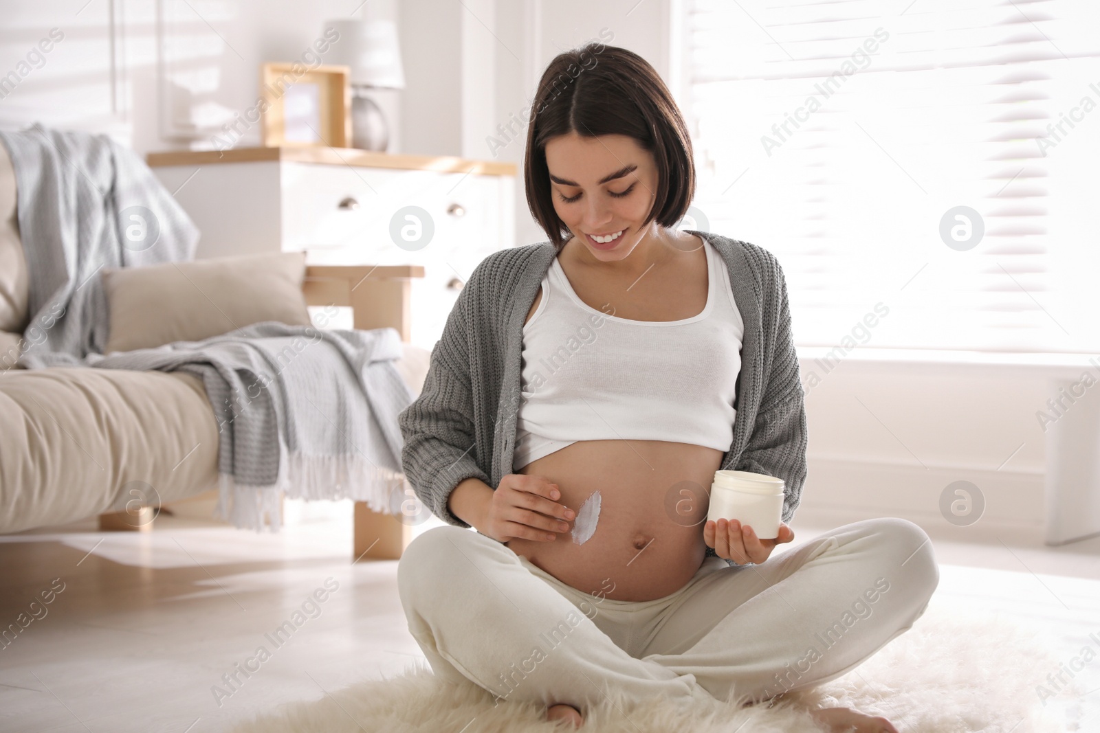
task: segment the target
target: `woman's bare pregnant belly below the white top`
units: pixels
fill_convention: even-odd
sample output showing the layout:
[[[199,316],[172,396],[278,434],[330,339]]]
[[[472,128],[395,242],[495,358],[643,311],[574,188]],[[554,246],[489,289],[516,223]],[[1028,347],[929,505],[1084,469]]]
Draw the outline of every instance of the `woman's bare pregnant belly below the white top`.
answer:
[[[600,492],[595,531],[574,541],[514,538],[517,555],[578,590],[614,600],[642,601],[682,588],[706,553],[703,523],[708,491],[723,453],[663,441],[579,441],[534,460],[518,473],[541,476],[561,490],[559,503],[580,512]]]

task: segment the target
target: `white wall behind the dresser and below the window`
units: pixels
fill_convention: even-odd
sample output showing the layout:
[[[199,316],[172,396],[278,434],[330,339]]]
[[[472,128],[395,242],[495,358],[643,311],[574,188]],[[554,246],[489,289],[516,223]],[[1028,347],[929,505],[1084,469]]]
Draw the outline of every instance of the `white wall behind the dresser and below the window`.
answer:
[[[395,18],[400,29],[408,88],[380,96],[394,121],[392,151],[515,163],[515,244],[546,240],[524,195],[526,131],[495,156],[486,138],[513,115],[526,119],[538,78],[557,53],[605,27],[614,45],[649,59],[675,92],[680,67],[669,29],[678,1],[370,0],[359,13]],[[107,130],[142,152],[209,146],[210,131],[182,132],[188,111],[201,121],[245,110],[256,98],[262,62],[299,58],[326,19],[346,16],[355,4],[0,0],[0,75],[19,68],[50,29],[64,33],[41,68],[28,64],[25,78],[0,99],[0,124],[42,120]],[[191,91],[166,85],[173,75]],[[258,125],[240,144],[257,142]],[[1034,536],[1046,478],[1035,411],[1050,391],[1042,378],[1003,371],[851,359],[807,397],[811,465],[800,519],[895,514],[954,531],[938,500],[949,482],[965,479],[988,501],[986,518],[965,532],[1015,527]]]

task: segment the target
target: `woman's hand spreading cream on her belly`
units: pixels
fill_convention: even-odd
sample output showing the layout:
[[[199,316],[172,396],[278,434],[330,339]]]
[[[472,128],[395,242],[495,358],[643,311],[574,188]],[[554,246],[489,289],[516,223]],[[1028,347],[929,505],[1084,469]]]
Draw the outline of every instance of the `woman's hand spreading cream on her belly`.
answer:
[[[541,476],[508,474],[484,508],[479,531],[497,542],[550,542],[556,532],[568,532],[575,512],[557,502],[561,491]]]

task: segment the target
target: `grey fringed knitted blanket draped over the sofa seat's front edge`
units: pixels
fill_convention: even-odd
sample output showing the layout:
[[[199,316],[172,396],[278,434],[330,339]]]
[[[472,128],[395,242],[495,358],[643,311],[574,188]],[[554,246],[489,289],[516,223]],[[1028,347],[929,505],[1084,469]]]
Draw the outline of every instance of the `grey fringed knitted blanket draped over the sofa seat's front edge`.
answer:
[[[394,329],[321,331],[275,321],[157,348],[94,354],[86,366],[200,377],[218,421],[218,512],[237,526],[280,525],[279,493],[365,501],[402,497],[398,413],[413,392]],[[170,415],[166,415],[172,419]]]

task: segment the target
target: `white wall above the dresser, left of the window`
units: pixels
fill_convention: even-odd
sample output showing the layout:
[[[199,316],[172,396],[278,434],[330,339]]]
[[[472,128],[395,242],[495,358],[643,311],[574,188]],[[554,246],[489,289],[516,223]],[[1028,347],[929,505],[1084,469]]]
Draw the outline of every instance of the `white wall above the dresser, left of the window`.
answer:
[[[358,9],[356,9],[358,7]],[[64,36],[41,68],[0,99],[0,127],[108,132],[141,153],[260,144],[260,124],[226,124],[257,98],[260,66],[297,60],[328,19],[398,22],[407,88],[372,96],[391,121],[389,152],[455,155],[522,166],[524,134],[487,140],[524,118],[538,78],[560,51],[600,36],[649,59],[668,80],[670,0],[0,0],[0,75],[40,38]],[[321,54],[323,59],[324,54]],[[516,180],[515,244],[546,240]]]

